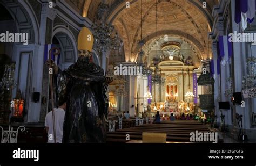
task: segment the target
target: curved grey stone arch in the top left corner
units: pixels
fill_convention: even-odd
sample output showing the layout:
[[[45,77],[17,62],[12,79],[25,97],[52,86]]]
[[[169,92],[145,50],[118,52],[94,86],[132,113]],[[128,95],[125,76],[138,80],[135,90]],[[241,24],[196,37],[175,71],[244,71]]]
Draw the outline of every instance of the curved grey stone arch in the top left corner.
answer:
[[[39,43],[39,28],[32,9],[24,1],[1,1],[16,22],[19,33],[29,33],[29,43]]]

